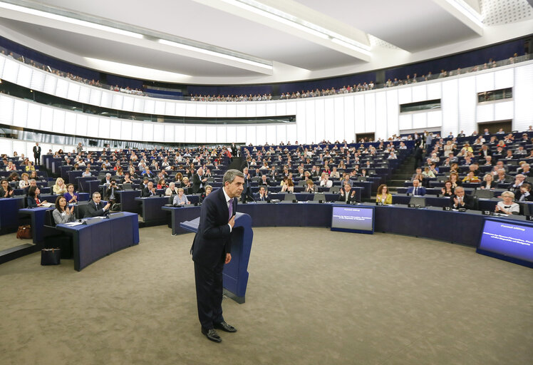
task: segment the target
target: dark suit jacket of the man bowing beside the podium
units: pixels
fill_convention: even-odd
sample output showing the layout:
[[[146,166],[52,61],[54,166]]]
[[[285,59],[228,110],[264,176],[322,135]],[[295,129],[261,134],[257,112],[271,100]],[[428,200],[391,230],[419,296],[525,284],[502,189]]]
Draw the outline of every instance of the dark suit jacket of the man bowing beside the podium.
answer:
[[[229,210],[223,187],[207,195],[200,210],[200,225],[192,243],[192,260],[204,267],[214,268],[231,253]],[[233,199],[233,214],[237,212],[237,198]]]

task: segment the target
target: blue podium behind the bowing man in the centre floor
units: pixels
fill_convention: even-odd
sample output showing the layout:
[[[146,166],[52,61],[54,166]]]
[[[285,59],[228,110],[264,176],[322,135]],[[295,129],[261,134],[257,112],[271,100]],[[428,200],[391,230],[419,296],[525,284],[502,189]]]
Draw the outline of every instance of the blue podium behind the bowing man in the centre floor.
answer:
[[[200,225],[200,217],[180,223],[180,227],[190,232],[197,232],[198,225]],[[224,279],[224,294],[239,304],[244,303],[246,294],[248,262],[253,238],[252,217],[237,212],[235,225],[232,229],[232,261],[224,265],[222,277]]]

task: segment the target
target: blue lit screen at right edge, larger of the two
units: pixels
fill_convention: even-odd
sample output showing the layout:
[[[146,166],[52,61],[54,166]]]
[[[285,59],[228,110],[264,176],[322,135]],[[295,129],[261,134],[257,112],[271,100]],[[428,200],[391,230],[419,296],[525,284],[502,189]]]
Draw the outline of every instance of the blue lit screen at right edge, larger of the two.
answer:
[[[533,267],[533,225],[486,219],[477,253]]]

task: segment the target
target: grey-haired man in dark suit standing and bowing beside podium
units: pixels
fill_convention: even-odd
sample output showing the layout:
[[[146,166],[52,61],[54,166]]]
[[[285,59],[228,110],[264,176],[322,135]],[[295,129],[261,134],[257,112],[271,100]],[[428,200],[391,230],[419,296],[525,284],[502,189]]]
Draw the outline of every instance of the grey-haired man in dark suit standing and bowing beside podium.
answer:
[[[242,194],[244,174],[227,170],[223,187],[207,195],[200,210],[200,224],[192,243],[195,262],[196,299],[202,334],[220,342],[214,329],[235,332],[222,317],[222,271],[231,261],[231,237],[237,211],[237,198]]]

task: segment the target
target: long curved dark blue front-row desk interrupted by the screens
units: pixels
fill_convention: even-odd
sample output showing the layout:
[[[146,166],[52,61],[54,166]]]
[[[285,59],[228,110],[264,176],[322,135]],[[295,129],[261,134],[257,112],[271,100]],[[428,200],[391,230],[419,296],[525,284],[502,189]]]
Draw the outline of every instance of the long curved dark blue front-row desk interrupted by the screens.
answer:
[[[237,212],[252,216],[252,227],[330,227],[331,203],[316,202],[246,204],[237,205]],[[422,209],[405,205],[373,206],[376,209],[374,229],[376,232],[395,233],[414,237],[477,246],[486,215],[481,212],[445,211],[438,207]],[[163,207],[171,212],[172,234],[186,233],[181,222],[200,216],[200,207]],[[523,216],[509,216],[506,219],[532,225]]]

